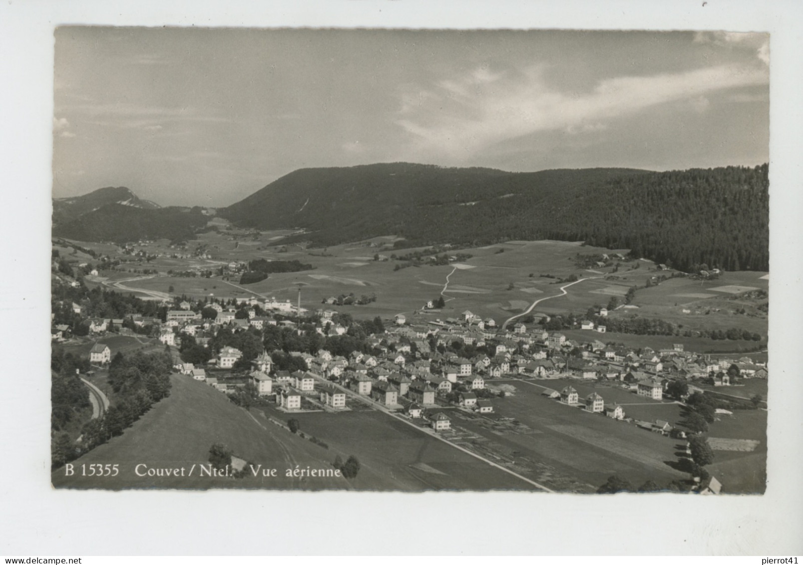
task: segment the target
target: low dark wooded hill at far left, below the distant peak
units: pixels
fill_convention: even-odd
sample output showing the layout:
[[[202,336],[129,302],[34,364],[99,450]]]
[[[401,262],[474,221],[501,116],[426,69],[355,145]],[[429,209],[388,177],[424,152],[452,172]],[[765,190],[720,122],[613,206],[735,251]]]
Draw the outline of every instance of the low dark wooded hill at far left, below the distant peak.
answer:
[[[168,207],[146,210],[108,204],[70,222],[55,225],[53,235],[79,241],[187,240],[209,218],[200,210]]]

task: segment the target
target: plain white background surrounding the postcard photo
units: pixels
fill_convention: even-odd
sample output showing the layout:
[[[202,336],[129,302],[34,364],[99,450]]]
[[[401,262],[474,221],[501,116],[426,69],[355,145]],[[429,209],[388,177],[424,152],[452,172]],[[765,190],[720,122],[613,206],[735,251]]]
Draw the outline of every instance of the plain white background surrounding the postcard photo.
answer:
[[[0,555],[795,555],[801,489],[801,2],[0,4]],[[771,33],[763,497],[55,491],[49,484],[53,28],[63,23]],[[89,190],[89,189],[88,189]],[[757,562],[760,563],[760,562]]]

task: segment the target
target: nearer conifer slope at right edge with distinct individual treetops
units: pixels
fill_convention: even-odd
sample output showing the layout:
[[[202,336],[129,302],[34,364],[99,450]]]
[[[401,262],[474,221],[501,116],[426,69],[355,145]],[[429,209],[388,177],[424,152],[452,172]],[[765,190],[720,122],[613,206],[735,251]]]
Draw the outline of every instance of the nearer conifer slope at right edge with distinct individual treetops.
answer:
[[[630,248],[689,270],[769,270],[768,166],[618,178],[556,203],[548,237]]]

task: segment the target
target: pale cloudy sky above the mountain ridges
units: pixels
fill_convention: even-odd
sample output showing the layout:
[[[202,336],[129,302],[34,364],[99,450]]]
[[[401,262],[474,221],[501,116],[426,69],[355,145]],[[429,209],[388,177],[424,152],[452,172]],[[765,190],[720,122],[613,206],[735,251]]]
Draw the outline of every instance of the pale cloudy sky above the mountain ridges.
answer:
[[[60,27],[54,196],[226,206],[301,167],[768,161],[768,35]]]

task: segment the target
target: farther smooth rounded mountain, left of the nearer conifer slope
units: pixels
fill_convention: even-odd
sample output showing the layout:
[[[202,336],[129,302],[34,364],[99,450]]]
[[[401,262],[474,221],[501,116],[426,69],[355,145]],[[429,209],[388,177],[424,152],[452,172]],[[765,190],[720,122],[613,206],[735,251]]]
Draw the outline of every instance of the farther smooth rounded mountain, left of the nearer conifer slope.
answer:
[[[413,163],[301,169],[219,209],[243,226],[304,227],[329,245],[397,234],[416,244],[510,239],[510,215],[528,215],[550,199],[597,186],[630,169],[509,173]]]

